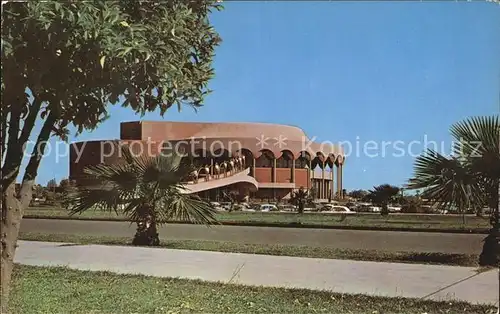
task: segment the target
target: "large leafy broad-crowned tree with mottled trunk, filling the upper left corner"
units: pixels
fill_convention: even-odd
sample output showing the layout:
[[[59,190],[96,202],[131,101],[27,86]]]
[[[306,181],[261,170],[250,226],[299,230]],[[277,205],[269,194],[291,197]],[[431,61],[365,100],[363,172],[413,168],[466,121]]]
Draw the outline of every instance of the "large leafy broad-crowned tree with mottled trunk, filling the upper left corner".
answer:
[[[95,129],[121,104],[141,115],[198,108],[210,91],[215,1],[10,1],[2,3],[1,304],[23,209],[46,142]],[[34,131],[37,119],[42,127]],[[15,181],[36,139],[20,193]]]

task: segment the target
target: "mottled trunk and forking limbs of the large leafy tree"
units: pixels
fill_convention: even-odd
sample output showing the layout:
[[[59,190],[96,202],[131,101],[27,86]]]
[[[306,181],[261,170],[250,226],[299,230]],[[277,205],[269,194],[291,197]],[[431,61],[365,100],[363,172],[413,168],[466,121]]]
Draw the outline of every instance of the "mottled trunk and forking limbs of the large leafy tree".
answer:
[[[19,72],[20,73],[20,72]],[[57,119],[57,112],[52,108],[49,111],[42,129],[37,137],[36,145],[33,147],[29,163],[24,171],[22,186],[16,191],[16,179],[19,175],[21,163],[28,139],[32,136],[32,130],[38,117],[43,100],[35,96],[29,106],[28,116],[23,116],[24,107],[29,103],[28,94],[25,93],[25,79],[22,76],[6,80],[5,93],[2,95],[2,108],[4,103],[11,104],[8,128],[7,119],[2,117],[2,128],[0,134],[0,155],[2,156],[2,202],[0,208],[0,256],[1,256],[1,313],[8,312],[8,300],[10,281],[14,266],[14,254],[17,247],[17,237],[23,218],[23,210],[28,207],[33,196],[33,184],[37,175],[40,160],[45,151],[47,140]],[[33,89],[32,89],[33,91]],[[59,103],[59,101],[55,101]],[[23,121],[21,123],[21,121]],[[21,127],[22,125],[22,127]],[[8,129],[8,131],[7,131]],[[8,134],[6,134],[8,133]],[[19,134],[20,133],[20,134]],[[8,136],[6,136],[8,135]],[[5,142],[5,139],[8,139]]]

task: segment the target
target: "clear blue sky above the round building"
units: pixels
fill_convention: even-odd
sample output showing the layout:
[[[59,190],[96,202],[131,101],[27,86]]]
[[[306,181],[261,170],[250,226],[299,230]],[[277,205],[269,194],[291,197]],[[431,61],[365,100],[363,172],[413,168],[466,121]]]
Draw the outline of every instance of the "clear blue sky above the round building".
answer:
[[[500,110],[499,5],[229,1],[224,6],[211,17],[223,42],[210,83],[214,92],[204,107],[171,109],[163,118],[151,113],[144,120],[298,126],[317,141],[344,144],[344,188],[353,190],[406,183],[426,145],[432,148],[434,141],[449,153],[454,122]],[[121,121],[140,119],[119,106],[110,114],[97,130],[71,142],[119,138]],[[68,177],[67,147],[59,144],[55,154],[56,146],[42,160],[40,184]]]

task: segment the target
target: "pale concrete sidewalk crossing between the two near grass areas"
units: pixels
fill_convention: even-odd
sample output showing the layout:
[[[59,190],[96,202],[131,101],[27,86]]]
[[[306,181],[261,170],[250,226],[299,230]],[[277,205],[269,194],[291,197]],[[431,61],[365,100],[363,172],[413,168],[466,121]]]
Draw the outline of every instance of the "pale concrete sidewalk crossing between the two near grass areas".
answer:
[[[498,271],[239,253],[19,241],[15,262],[245,285],[497,304]]]

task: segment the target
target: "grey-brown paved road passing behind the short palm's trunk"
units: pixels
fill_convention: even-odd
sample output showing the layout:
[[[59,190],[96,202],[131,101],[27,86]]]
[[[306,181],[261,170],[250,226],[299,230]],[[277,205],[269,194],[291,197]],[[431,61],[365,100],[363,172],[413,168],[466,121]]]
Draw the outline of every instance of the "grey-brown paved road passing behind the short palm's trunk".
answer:
[[[127,222],[23,219],[21,232],[132,237]],[[163,239],[215,240],[256,244],[290,244],[345,249],[479,254],[484,235],[333,229],[270,228],[169,224]]]

